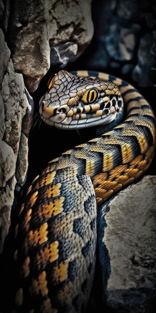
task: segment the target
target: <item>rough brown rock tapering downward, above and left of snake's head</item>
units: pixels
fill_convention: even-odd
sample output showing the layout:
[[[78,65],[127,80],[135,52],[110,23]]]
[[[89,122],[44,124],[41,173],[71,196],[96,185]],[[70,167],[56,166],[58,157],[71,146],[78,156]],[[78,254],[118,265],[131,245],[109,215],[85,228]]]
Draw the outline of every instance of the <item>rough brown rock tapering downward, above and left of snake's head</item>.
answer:
[[[44,0],[14,0],[8,25],[8,45],[14,69],[33,92],[50,65],[47,39],[48,4]]]

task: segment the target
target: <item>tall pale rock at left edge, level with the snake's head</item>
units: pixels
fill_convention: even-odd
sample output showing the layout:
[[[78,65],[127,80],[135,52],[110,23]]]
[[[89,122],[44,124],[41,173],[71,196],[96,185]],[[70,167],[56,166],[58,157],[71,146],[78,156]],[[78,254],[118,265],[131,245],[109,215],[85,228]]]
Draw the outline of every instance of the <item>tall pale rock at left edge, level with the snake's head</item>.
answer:
[[[17,157],[21,123],[28,107],[28,101],[25,96],[23,77],[14,72],[11,60],[8,62],[7,72],[2,80],[1,96],[5,111],[3,140],[12,147],[15,157]]]

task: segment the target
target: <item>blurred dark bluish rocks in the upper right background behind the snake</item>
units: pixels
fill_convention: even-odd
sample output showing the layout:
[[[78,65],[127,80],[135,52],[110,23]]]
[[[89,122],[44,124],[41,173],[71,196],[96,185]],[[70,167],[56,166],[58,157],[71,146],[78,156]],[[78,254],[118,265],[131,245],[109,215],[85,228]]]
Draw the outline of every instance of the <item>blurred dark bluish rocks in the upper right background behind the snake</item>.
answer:
[[[93,0],[92,17],[95,31],[85,66],[118,68],[138,86],[156,86],[156,2]]]

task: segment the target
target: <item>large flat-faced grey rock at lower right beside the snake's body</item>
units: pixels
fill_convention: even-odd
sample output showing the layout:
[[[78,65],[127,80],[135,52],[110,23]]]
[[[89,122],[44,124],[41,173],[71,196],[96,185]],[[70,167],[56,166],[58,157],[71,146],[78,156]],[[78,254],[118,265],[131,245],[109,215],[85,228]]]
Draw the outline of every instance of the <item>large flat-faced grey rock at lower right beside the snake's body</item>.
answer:
[[[156,309],[156,176],[121,191],[101,215],[104,293],[109,312]],[[101,218],[102,218],[101,216]]]

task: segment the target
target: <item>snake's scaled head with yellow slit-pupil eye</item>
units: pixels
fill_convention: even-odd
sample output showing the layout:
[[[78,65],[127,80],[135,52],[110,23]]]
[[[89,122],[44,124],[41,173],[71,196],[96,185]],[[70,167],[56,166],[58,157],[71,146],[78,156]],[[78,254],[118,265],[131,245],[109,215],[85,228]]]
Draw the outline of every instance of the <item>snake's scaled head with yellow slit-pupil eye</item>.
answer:
[[[107,124],[123,107],[118,86],[102,79],[79,77],[60,70],[48,82],[39,101],[41,119],[57,128]]]

